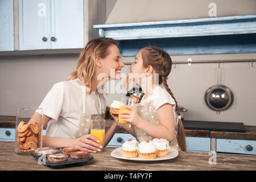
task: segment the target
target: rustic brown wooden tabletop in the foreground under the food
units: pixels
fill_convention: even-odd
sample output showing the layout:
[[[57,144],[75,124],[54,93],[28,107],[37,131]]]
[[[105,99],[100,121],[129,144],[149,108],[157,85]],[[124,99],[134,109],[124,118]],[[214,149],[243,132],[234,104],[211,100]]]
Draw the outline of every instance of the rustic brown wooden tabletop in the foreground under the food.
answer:
[[[113,158],[110,153],[115,148],[105,148],[104,152],[92,154],[93,160],[84,166],[69,166],[58,170],[256,170],[255,156],[216,154],[216,163],[209,164],[208,153],[179,152],[174,159],[158,162],[134,162]],[[57,170],[38,161],[31,155],[17,155],[14,142],[0,142],[0,170]]]

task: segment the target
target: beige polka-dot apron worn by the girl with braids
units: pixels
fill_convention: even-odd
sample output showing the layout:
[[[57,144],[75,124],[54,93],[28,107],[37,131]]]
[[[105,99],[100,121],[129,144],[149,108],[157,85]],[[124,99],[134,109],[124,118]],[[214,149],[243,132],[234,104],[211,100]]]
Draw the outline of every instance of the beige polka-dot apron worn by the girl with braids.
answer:
[[[155,125],[159,125],[158,116],[156,115],[156,110],[152,101],[149,101],[144,104],[136,104],[135,110],[137,111],[139,116],[141,116],[146,121],[149,121]],[[180,150],[179,144],[177,142],[177,122],[176,122],[177,118],[175,113],[174,113],[174,118],[175,118],[175,135],[174,135],[174,140],[170,143],[170,147],[175,148],[176,150]],[[134,126],[134,130],[139,142],[142,142],[143,140],[154,139],[136,126]]]

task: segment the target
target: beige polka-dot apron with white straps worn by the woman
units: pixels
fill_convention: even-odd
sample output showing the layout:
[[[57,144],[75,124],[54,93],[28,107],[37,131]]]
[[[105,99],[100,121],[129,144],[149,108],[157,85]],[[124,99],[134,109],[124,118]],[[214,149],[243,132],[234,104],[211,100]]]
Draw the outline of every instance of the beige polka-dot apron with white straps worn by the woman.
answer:
[[[86,95],[87,95],[86,92],[87,92],[86,86],[83,85],[82,86],[82,115],[80,117],[80,123],[79,123],[79,126],[77,127],[77,131],[76,131],[75,135],[73,136],[73,139],[80,138],[83,135],[87,135],[90,133],[90,121],[92,119],[105,119],[105,113],[104,113],[104,110],[102,110],[100,97],[98,95],[97,95],[98,103],[99,103],[100,111],[102,114],[85,114]]]

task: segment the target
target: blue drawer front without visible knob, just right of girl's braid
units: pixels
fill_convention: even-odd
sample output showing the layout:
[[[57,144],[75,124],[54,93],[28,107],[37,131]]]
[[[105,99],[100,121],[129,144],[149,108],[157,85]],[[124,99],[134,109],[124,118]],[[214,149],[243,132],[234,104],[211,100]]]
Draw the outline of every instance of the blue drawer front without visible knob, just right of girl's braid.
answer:
[[[187,151],[190,152],[209,152],[210,138],[205,137],[185,137]]]

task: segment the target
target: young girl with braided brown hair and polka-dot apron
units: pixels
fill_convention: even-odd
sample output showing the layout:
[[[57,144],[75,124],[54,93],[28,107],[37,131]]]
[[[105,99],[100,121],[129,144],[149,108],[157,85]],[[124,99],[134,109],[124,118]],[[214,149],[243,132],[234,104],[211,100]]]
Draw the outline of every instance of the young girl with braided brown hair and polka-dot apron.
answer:
[[[129,77],[139,80],[137,83],[144,94],[140,98],[141,104],[136,105],[135,109],[126,106],[130,111],[122,111],[121,114],[125,114],[122,115],[122,120],[131,122],[133,127],[126,129],[139,142],[165,138],[171,147],[186,151],[179,107],[166,81],[171,67],[171,57],[162,49],[144,47],[139,50],[131,64]],[[158,78],[156,82],[154,78]]]

